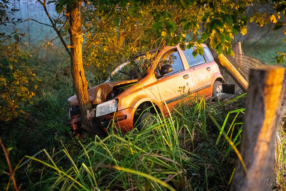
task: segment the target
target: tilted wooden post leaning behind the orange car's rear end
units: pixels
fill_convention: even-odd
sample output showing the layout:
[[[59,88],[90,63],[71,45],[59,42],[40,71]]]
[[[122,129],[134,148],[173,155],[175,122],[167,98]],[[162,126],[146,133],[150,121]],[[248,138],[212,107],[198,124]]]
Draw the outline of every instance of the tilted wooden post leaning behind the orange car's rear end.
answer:
[[[225,71],[227,71],[227,73],[233,78],[233,80],[244,92],[247,91],[248,82],[223,54],[217,55],[214,60],[218,65],[222,66]]]

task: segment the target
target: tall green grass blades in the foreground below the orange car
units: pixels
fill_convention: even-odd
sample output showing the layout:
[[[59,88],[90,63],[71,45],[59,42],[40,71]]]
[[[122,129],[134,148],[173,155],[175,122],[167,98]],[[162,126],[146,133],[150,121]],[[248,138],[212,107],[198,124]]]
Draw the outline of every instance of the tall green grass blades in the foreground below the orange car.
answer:
[[[53,155],[43,150],[40,155],[46,155],[46,161],[39,160],[39,155],[26,156],[44,165],[41,181],[35,188],[225,190],[236,155],[223,139],[218,139],[219,131],[207,117],[211,113],[222,124],[223,105],[219,102],[206,105],[204,99],[194,99],[195,103],[188,106],[187,100],[169,118],[156,116],[156,123],[145,125],[141,132],[137,129],[125,135],[110,132],[105,139],[95,137],[86,145],[80,142],[77,157],[71,157],[66,148]],[[232,119],[229,129],[236,140],[240,133],[234,129],[237,115]],[[60,159],[54,161],[54,158]]]

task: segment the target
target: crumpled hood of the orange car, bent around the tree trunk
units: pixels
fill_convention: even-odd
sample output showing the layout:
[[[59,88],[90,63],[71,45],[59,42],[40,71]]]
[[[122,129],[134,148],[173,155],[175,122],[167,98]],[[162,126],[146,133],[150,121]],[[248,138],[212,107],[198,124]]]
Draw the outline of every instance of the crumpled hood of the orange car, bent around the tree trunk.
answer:
[[[125,81],[116,81],[116,82],[104,82],[100,85],[92,87],[88,89],[88,94],[90,96],[90,102],[92,104],[100,104],[106,101],[107,95],[112,91],[112,88],[117,85],[127,84],[127,83],[134,83],[138,81],[138,79],[134,80],[125,80]],[[71,106],[78,105],[78,100],[76,95],[73,95],[68,99]]]

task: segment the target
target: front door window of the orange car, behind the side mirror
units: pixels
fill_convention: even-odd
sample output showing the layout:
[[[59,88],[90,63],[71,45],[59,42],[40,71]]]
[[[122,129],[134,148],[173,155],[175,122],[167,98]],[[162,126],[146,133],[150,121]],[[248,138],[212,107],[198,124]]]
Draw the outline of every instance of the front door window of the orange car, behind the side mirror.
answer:
[[[184,70],[184,66],[183,66],[180,54],[179,54],[179,52],[178,52],[178,50],[176,48],[168,50],[160,58],[159,64],[156,67],[157,76],[160,76],[159,68],[161,66],[167,65],[167,64],[172,65],[172,67],[174,68],[174,70],[172,72],[168,73],[167,75],[174,74],[174,73],[177,73],[179,71],[183,71]]]

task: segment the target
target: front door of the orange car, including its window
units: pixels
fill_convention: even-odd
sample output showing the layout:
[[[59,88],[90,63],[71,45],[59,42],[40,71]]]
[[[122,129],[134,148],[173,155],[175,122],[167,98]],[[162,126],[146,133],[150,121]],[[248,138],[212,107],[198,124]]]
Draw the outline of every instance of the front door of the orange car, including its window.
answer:
[[[167,107],[170,112],[178,101],[194,90],[190,71],[186,63],[182,61],[177,48],[167,48],[159,59],[157,67],[154,69],[154,81],[157,85],[161,104],[166,115]],[[162,65],[170,64],[174,70],[163,77],[160,76],[159,68]],[[164,103],[165,102],[165,103]]]

